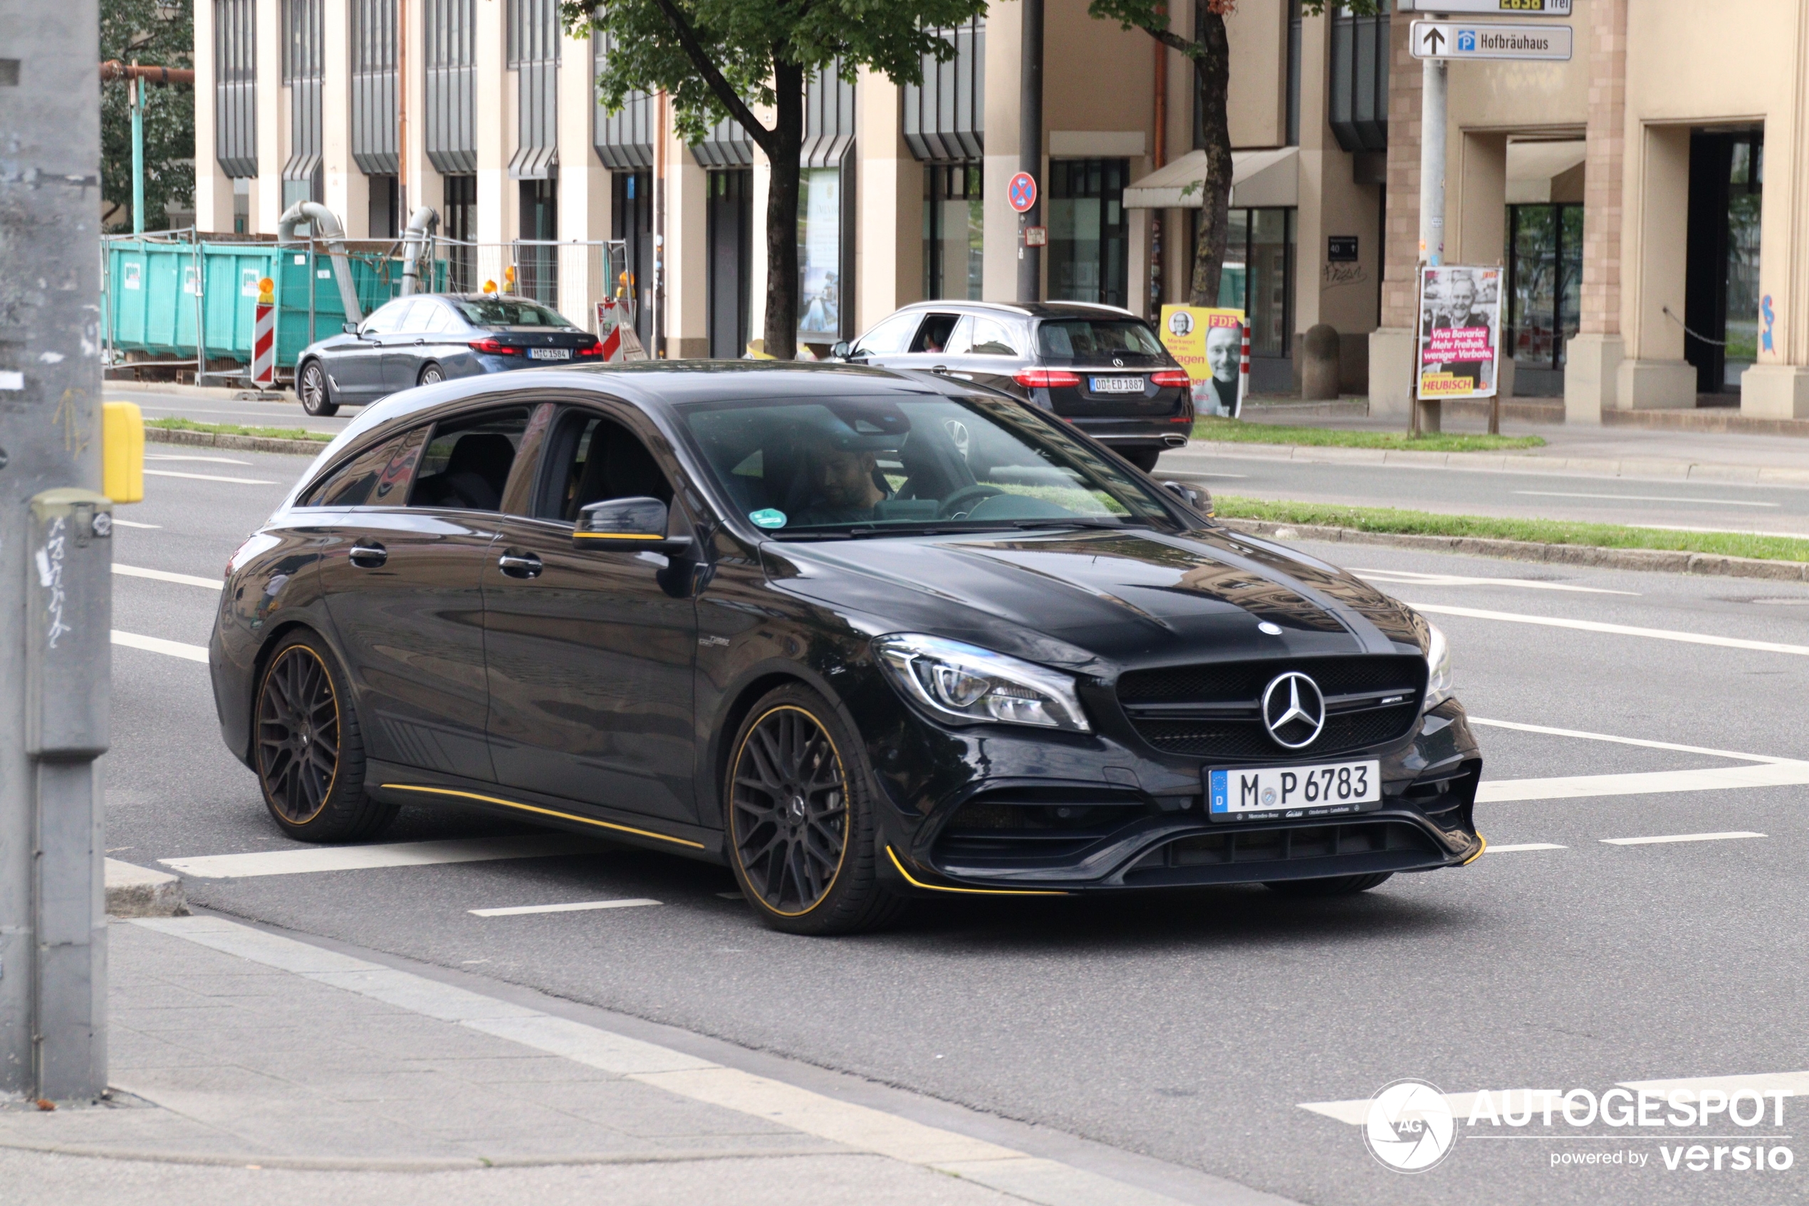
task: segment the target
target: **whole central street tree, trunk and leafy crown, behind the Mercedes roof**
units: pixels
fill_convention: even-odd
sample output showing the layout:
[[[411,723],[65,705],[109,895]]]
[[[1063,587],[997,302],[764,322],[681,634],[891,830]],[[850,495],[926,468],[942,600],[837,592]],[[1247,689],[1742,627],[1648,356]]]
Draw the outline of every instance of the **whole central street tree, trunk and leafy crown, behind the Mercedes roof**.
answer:
[[[825,67],[852,81],[861,67],[923,83],[923,60],[948,60],[935,33],[986,0],[561,0],[566,31],[610,38],[597,96],[620,110],[630,92],[666,92],[673,125],[702,141],[733,118],[772,165],[767,193],[767,353],[798,353],[798,190],[805,81]],[[772,114],[765,123],[756,108]],[[843,289],[847,282],[843,282]],[[843,293],[843,304],[850,297]]]

